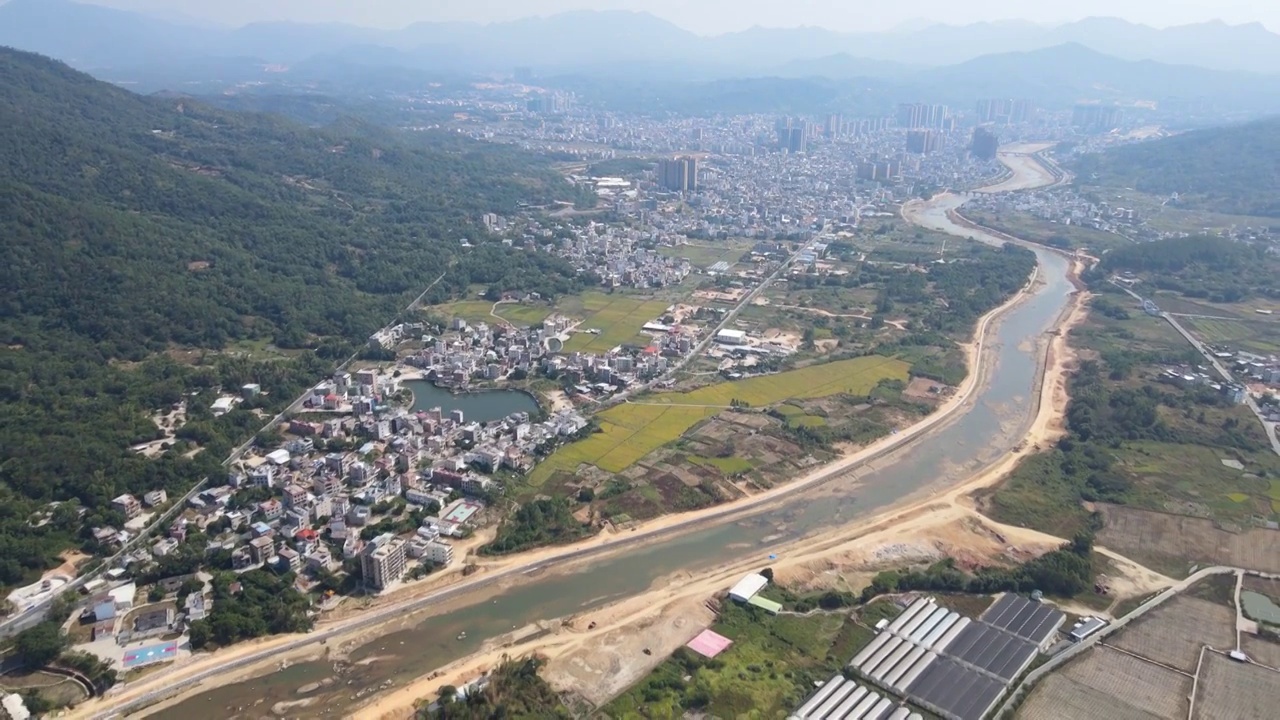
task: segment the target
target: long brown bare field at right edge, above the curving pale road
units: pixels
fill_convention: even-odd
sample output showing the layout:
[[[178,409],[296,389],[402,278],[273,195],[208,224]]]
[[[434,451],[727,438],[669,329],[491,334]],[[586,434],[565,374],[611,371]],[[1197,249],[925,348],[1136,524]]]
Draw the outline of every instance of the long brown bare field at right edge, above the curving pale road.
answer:
[[[1102,502],[1097,507],[1105,518],[1098,542],[1135,560],[1164,557],[1280,573],[1280,530],[1230,533],[1202,518]]]

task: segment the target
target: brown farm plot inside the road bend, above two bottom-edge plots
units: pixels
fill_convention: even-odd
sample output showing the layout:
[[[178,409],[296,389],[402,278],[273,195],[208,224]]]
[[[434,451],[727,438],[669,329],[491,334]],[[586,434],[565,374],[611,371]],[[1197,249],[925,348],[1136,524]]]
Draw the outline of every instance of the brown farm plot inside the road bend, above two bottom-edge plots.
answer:
[[[1155,662],[1196,671],[1203,646],[1235,647],[1235,611],[1194,597],[1179,596],[1125,628],[1110,643]]]

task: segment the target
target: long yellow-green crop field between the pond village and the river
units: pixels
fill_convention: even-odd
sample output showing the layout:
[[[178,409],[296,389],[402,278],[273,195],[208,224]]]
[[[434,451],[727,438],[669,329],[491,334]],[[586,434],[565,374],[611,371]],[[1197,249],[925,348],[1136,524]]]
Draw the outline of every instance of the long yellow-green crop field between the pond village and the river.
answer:
[[[722,413],[733,400],[765,407],[794,397],[864,396],[883,379],[905,380],[909,368],[901,360],[869,355],[690,392],[655,395],[645,405],[618,405],[598,416],[600,432],[557,450],[530,473],[529,482],[541,486],[557,470],[575,471],[584,462],[621,473],[701,420]]]

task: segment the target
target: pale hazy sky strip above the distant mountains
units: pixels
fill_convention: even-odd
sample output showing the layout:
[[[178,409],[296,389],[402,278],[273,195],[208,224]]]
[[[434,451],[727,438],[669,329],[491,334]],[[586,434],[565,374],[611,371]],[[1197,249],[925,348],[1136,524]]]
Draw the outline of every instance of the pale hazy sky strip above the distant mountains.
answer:
[[[1261,20],[1280,31],[1277,0],[88,0],[131,10],[239,26],[255,20],[344,22],[396,28],[420,20],[508,20],[576,9],[648,10],[710,35],[750,26],[887,29],[906,20],[970,23],[1023,18],[1064,22],[1121,17],[1165,27]]]

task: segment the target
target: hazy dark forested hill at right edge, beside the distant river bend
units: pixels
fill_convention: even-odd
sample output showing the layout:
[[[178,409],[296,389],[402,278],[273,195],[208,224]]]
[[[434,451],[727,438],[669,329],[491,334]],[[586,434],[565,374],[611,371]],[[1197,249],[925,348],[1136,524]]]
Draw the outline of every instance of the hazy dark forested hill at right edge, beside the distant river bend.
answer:
[[[1115,147],[1085,155],[1075,170],[1085,183],[1176,192],[1202,209],[1280,218],[1280,118]]]

